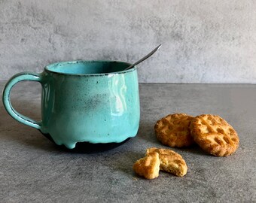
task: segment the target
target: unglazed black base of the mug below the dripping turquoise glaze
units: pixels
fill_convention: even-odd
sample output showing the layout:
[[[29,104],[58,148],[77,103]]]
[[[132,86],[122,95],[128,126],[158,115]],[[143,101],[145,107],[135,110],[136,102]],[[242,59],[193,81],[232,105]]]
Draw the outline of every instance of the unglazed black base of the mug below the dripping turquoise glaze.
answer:
[[[53,138],[51,138],[50,134],[43,134],[46,138],[48,138],[50,141],[53,141]],[[111,143],[98,143],[98,144],[92,144],[90,142],[84,141],[84,142],[78,142],[75,145],[74,149],[68,149],[64,145],[57,145],[60,150],[65,150],[69,152],[74,152],[74,153],[99,153],[99,152],[104,152],[107,150],[112,150],[116,147],[119,147],[120,145],[124,144],[126,141],[129,141],[130,138],[127,138],[125,141],[122,141],[120,143],[116,142],[111,142]],[[55,143],[54,143],[55,144]]]

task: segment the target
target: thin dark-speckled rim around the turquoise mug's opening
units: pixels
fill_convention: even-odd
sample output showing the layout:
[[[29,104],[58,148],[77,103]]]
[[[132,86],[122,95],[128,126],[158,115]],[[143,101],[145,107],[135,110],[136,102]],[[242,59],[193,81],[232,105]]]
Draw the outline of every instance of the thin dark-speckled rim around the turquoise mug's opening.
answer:
[[[75,64],[75,63],[80,63],[80,62],[117,62],[117,63],[123,63],[126,64],[127,67],[129,67],[130,65],[132,65],[129,62],[122,62],[122,61],[112,61],[112,60],[75,60],[75,61],[66,61],[66,62],[54,62],[51,63],[49,65],[46,65],[44,67],[44,71],[46,72],[50,72],[53,74],[62,74],[62,75],[70,75],[70,76],[105,76],[105,75],[109,75],[109,74],[125,74],[131,71],[135,71],[136,70],[136,66],[134,66],[133,68],[130,68],[128,70],[124,70],[124,71],[114,71],[114,72],[106,72],[106,73],[94,73],[94,74],[72,74],[72,73],[63,73],[63,72],[59,72],[59,71],[53,71],[50,70],[50,66],[53,65],[66,65],[66,64]]]

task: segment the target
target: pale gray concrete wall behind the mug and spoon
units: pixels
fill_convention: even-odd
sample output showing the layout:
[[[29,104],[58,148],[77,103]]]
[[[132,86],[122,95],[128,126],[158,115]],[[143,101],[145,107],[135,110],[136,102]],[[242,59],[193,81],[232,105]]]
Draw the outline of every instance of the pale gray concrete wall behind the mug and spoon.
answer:
[[[135,62],[148,83],[256,83],[256,1],[0,0],[0,80],[51,62]]]

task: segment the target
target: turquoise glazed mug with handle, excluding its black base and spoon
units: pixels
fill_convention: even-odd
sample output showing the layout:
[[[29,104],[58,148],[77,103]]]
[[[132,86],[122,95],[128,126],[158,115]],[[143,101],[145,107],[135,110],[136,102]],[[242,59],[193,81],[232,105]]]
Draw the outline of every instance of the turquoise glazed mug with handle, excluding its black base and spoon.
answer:
[[[136,68],[115,61],[58,62],[41,74],[23,72],[3,92],[6,111],[69,149],[77,143],[122,143],[139,129],[139,83]],[[41,83],[41,121],[14,110],[11,88],[22,80]]]

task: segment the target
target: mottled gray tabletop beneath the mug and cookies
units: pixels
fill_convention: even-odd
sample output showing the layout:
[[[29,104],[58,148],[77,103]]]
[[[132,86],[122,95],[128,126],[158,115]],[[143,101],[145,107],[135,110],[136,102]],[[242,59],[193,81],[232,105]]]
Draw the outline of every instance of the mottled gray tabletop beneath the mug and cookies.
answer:
[[[0,82],[3,89],[5,81]],[[40,86],[23,82],[14,108],[40,120]],[[1,202],[256,202],[256,86],[249,84],[139,85],[136,138],[102,153],[59,150],[36,129],[13,120],[0,105]],[[184,177],[136,176],[133,163],[148,147],[164,147],[154,123],[167,114],[218,114],[239,134],[236,153],[209,156],[200,147],[172,148],[187,162]],[[166,147],[168,148],[168,147]]]

